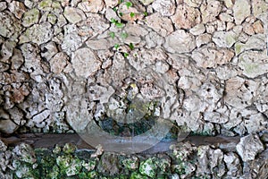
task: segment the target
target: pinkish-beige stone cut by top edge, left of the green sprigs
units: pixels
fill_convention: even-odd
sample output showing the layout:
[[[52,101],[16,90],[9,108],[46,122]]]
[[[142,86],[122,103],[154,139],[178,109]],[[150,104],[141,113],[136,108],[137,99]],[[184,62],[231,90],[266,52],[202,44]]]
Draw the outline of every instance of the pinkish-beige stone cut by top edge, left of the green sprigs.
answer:
[[[103,0],[83,0],[80,4],[78,4],[78,8],[82,10],[84,13],[98,13],[105,6]]]

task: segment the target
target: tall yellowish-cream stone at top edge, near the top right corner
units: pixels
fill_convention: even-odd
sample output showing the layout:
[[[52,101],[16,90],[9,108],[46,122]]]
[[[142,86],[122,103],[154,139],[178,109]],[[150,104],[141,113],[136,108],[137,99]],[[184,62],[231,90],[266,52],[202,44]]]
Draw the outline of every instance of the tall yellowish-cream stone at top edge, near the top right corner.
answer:
[[[247,0],[238,0],[233,6],[236,24],[241,24],[250,15],[250,4]]]

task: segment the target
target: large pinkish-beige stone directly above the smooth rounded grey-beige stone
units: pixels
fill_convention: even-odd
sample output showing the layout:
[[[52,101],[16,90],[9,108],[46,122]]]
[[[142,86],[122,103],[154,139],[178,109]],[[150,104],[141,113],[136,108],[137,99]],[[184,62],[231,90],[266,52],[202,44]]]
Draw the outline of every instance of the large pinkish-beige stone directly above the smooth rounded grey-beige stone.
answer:
[[[172,21],[177,29],[190,29],[200,23],[201,16],[197,8],[179,4],[176,13],[172,16]]]

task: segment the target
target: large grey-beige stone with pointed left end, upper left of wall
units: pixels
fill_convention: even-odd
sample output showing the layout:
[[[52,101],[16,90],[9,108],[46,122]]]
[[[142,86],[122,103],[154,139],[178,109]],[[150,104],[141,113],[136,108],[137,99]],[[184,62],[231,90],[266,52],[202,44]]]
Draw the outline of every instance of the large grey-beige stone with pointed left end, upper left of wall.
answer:
[[[20,37],[20,44],[26,42],[44,44],[53,37],[52,25],[49,22],[34,24],[27,29]]]

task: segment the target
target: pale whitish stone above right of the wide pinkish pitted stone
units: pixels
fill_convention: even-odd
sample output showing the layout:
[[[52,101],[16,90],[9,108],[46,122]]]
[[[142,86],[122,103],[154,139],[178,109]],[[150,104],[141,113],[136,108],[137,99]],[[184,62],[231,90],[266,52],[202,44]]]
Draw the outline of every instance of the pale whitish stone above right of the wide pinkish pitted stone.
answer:
[[[216,31],[213,41],[218,47],[232,47],[237,38],[238,35],[233,31]]]

